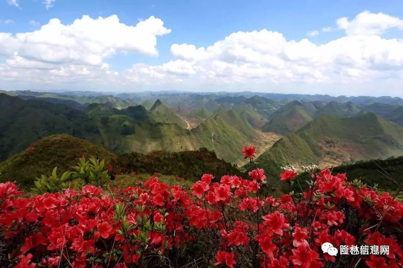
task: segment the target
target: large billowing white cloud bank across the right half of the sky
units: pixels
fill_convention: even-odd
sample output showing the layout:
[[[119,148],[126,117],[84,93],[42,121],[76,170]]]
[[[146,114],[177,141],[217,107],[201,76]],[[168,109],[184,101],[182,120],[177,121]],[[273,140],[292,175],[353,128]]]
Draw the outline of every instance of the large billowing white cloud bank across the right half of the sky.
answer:
[[[403,40],[380,37],[381,32],[374,30],[379,29],[378,23],[369,27],[359,19],[367,15],[384,16],[358,14],[348,29],[365,28],[366,35],[347,34],[321,45],[308,39],[286,40],[281,33],[263,29],[232,33],[208,47],[173,44],[171,54],[191,62],[193,76],[201,81],[348,83],[349,79],[364,82],[401,77]]]

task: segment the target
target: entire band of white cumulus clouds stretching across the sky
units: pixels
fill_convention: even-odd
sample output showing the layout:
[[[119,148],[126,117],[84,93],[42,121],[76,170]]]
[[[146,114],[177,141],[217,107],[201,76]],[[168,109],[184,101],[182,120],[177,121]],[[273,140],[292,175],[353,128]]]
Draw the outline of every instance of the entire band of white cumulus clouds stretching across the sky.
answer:
[[[239,31],[204,47],[174,43],[173,60],[134,63],[115,72],[104,60],[117,53],[158,55],[157,36],[170,33],[160,19],[150,17],[134,26],[120,23],[117,16],[83,16],[71,25],[53,19],[37,31],[0,33],[0,54],[7,57],[0,80],[86,81],[143,89],[209,85],[220,90],[265,90],[268,85],[329,89],[338,84],[358,89],[365,83],[378,88],[392,83],[401,90],[397,88],[403,79],[403,40],[382,37],[387,29],[402,29],[400,23],[399,18],[364,11],[353,19],[337,19],[345,35],[321,44],[287,39],[268,29]]]

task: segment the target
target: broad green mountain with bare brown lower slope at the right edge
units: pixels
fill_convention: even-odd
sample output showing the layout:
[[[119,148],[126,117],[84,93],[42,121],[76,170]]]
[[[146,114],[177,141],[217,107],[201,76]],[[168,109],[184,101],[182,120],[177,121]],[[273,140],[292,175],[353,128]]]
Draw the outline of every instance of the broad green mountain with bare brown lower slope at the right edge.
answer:
[[[353,118],[325,115],[278,140],[256,159],[261,167],[337,165],[403,155],[403,127],[374,113]],[[275,167],[277,165],[277,167]]]

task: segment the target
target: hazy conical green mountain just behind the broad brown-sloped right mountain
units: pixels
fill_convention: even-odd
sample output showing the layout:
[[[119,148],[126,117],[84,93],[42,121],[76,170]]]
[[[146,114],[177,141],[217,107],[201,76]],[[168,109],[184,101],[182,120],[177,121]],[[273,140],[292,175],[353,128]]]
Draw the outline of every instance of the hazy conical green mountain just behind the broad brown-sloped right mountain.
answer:
[[[312,113],[315,113],[312,106],[306,108],[299,101],[287,103],[269,116],[269,121],[262,126],[263,131],[272,131],[278,134],[287,135],[312,121]],[[305,105],[308,106],[308,105]],[[311,115],[307,111],[311,109]],[[316,109],[315,109],[316,110]]]

